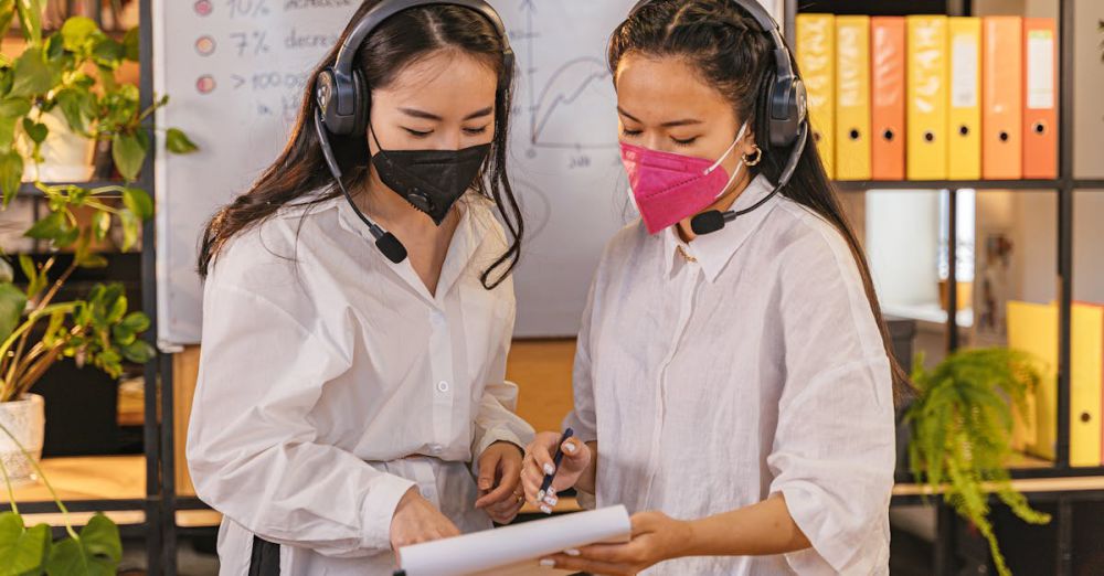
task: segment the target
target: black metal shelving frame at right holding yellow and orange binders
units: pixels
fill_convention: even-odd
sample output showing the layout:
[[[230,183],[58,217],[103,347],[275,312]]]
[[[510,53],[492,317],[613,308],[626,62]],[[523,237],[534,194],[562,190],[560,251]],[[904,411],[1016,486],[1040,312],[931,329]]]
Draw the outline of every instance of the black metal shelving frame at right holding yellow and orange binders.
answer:
[[[1074,193],[1083,190],[1104,190],[1102,179],[1078,179],[1073,173],[1073,136],[1075,124],[1073,119],[1074,105],[1074,1],[1057,0],[1059,8],[1059,178],[1055,180],[937,180],[937,181],[836,181],[837,190],[841,192],[862,192],[867,190],[946,190],[948,191],[951,226],[947,243],[948,266],[947,310],[957,309],[956,266],[956,230],[957,210],[956,194],[959,190],[1016,190],[1016,191],[1052,191],[1058,199],[1058,291],[1059,291],[1059,354],[1058,354],[1058,403],[1057,403],[1057,447],[1052,466],[1013,468],[1015,480],[1054,480],[1053,484],[1066,487],[1059,489],[1029,489],[1026,495],[1032,502],[1057,503],[1054,525],[1058,527],[1058,557],[1053,574],[1066,576],[1073,573],[1073,529],[1072,514],[1075,502],[1104,501],[1104,467],[1071,467],[1070,466],[1070,319],[1073,301],[1073,202]],[[959,0],[948,2],[949,15],[970,15],[972,1]],[[786,0],[785,23],[783,29],[787,38],[793,39],[795,32],[797,0]],[[831,11],[827,8],[824,11]],[[1104,192],[1102,192],[1104,193]],[[955,314],[947,314],[947,350],[959,348],[959,327]],[[1081,479],[1080,482],[1070,482]],[[1089,481],[1084,481],[1089,480]],[[1098,480],[1098,482],[1096,482]],[[1036,482],[1034,486],[1039,486]],[[1070,488],[1073,487],[1073,488]],[[922,501],[919,494],[894,495],[893,505],[916,504]],[[937,499],[931,499],[938,502]],[[938,503],[937,538],[935,542],[935,573],[951,575],[955,567],[955,534],[958,518],[948,506]]]

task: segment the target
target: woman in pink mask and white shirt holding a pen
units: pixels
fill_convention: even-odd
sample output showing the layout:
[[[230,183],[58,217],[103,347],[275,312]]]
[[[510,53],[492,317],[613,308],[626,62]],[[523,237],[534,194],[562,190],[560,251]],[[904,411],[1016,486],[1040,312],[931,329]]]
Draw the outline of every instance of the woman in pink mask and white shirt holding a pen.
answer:
[[[597,574],[888,574],[893,361],[862,249],[754,0],[641,2],[609,45],[641,222],[607,246],[575,359],[576,436],[527,498],[625,504]],[[548,493],[543,474],[554,473]]]

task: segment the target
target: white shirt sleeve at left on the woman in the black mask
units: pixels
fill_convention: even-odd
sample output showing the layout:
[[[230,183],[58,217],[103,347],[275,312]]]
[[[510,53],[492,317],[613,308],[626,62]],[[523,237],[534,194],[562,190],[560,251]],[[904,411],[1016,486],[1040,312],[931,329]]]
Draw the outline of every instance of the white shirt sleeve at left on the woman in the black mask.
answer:
[[[390,551],[391,519],[414,482],[319,442],[311,422],[350,359],[263,296],[211,282],[187,448],[198,495],[277,544],[341,557]]]

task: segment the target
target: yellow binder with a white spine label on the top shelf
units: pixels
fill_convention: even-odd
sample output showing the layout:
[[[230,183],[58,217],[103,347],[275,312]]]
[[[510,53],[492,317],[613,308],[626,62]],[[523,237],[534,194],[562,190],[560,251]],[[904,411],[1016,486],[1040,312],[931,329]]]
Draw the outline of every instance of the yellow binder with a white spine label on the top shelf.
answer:
[[[947,178],[981,178],[981,19],[951,18]]]

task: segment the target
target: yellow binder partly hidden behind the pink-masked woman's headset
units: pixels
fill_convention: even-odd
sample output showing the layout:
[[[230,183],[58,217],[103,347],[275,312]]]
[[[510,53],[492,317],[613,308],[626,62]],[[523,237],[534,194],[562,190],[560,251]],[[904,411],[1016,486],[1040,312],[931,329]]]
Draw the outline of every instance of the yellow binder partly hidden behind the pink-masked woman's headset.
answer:
[[[836,178],[836,17],[797,14],[797,67],[808,93],[809,125],[828,178]]]

